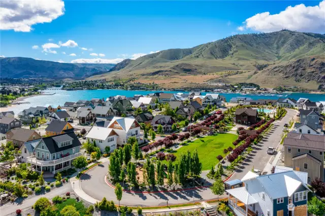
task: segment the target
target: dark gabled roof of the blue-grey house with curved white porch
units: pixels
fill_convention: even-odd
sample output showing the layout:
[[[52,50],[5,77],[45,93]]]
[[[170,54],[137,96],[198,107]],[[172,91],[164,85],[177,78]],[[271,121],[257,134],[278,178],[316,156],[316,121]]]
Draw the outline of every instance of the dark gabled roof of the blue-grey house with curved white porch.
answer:
[[[74,132],[59,134],[50,137],[44,137],[42,139],[51,154],[81,146],[81,143]],[[68,145],[60,148],[58,147],[57,142],[63,142],[68,140],[72,140],[72,145]]]

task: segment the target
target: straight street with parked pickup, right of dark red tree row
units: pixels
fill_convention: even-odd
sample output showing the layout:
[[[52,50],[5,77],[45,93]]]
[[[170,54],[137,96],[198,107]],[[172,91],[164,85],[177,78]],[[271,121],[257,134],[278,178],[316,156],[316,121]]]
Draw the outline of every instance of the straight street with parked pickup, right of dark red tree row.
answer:
[[[266,135],[263,141],[256,146],[255,150],[252,151],[251,155],[246,158],[246,160],[236,170],[231,178],[241,179],[253,167],[254,169],[263,171],[270,159],[277,155],[277,151],[275,151],[274,155],[268,155],[266,153],[268,147],[276,148],[278,146],[279,142],[281,141],[281,134],[284,124],[289,123],[289,121],[293,119],[296,114],[297,111],[287,109],[287,114],[285,117],[283,117],[281,121],[275,122],[273,129],[268,133],[268,135]],[[265,171],[270,172],[270,170]]]

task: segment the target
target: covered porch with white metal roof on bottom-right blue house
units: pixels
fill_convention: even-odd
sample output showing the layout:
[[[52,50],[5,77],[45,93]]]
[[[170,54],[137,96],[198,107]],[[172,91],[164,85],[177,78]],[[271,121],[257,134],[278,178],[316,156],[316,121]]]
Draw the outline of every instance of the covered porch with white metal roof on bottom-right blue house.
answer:
[[[226,190],[228,204],[237,215],[255,216],[258,202],[245,190],[245,187]]]

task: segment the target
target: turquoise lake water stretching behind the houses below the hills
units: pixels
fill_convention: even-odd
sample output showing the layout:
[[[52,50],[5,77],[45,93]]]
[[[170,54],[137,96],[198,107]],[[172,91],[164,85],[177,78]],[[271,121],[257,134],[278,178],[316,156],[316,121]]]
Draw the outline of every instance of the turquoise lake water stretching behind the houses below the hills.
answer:
[[[55,93],[54,95],[39,95],[35,97],[26,98],[24,101],[30,102],[29,104],[20,104],[14,107],[10,107],[10,111],[14,111],[18,114],[24,109],[30,106],[45,106],[50,105],[63,105],[67,101],[75,102],[80,99],[90,100],[91,98],[107,98],[115,95],[125,95],[131,97],[135,94],[147,95],[157,91],[129,91],[129,90],[115,90],[115,89],[99,89],[99,90],[80,90],[80,91],[64,91],[64,90],[45,90],[47,93]],[[178,91],[164,91],[166,93],[178,93]],[[202,93],[203,95],[206,92]],[[235,93],[221,94],[227,101],[232,97],[244,96]],[[252,99],[278,99],[277,96],[259,96],[259,95],[246,95]],[[309,93],[293,93],[288,97],[299,99],[300,97],[309,98],[311,101],[325,101],[325,94],[309,94]]]

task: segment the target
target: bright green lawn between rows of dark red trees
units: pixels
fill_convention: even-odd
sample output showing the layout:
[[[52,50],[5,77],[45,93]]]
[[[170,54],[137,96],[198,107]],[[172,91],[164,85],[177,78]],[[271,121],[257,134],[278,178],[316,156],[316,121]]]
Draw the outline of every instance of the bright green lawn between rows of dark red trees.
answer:
[[[237,139],[237,135],[231,133],[219,133],[217,135],[206,136],[196,139],[177,150],[174,154],[178,158],[180,154],[186,153],[187,150],[193,152],[198,150],[199,158],[202,163],[202,170],[209,170],[211,166],[215,166],[219,161],[216,158],[223,154],[223,150],[228,147],[233,147],[233,141]]]

